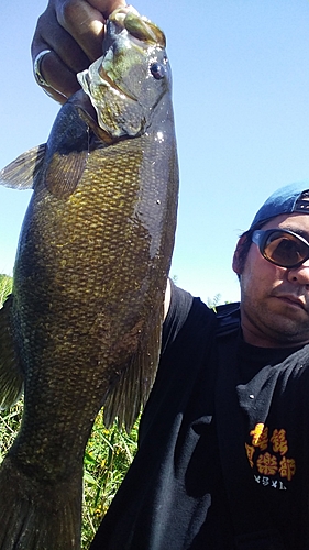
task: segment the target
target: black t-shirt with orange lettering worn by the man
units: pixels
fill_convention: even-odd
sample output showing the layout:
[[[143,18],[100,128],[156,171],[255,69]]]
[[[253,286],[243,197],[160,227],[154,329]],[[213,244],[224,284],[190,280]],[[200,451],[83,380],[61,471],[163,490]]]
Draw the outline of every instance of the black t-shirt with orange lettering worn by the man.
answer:
[[[297,353],[308,363],[308,350]],[[287,391],[299,374],[290,354],[249,346],[239,331],[218,337],[213,311],[173,286],[139,451],[91,550],[309,548],[304,529],[296,535],[307,520],[307,479],[301,495],[299,479],[287,491],[304,446],[287,411],[278,421],[297,393]],[[305,409],[293,406],[300,431]]]

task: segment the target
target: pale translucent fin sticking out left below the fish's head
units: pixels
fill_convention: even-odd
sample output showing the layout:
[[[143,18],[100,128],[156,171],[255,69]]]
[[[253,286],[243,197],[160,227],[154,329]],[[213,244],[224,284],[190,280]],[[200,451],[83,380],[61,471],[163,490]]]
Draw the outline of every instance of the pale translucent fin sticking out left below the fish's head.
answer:
[[[44,143],[18,156],[0,170],[0,185],[14,189],[32,189],[34,179],[42,169],[45,151]]]

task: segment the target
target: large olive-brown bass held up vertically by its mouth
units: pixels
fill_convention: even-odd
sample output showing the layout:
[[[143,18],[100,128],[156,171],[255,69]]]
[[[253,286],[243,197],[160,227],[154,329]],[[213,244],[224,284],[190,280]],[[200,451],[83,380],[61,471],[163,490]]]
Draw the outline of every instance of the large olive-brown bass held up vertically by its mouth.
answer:
[[[24,393],[0,468],[1,550],[80,548],[96,416],[130,430],[156,375],[179,179],[166,38],[119,9],[102,48],[47,143],[0,173],[33,189],[0,310],[0,406]]]

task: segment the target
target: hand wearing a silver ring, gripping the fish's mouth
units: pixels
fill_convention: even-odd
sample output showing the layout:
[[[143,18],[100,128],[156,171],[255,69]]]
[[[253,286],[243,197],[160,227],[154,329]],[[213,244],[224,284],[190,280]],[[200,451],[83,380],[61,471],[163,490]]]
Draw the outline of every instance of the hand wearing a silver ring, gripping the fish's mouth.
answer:
[[[104,22],[125,6],[125,0],[49,0],[38,18],[31,54],[40,72],[37,84],[56,101],[64,103],[80,88],[76,74],[102,55]]]

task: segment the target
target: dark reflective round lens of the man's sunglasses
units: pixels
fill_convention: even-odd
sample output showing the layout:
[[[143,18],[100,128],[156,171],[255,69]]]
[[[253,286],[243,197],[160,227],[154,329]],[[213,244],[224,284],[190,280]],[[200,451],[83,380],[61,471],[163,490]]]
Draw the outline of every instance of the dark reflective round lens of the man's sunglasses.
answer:
[[[283,267],[301,264],[308,256],[308,245],[289,233],[273,233],[264,245],[264,255]]]

